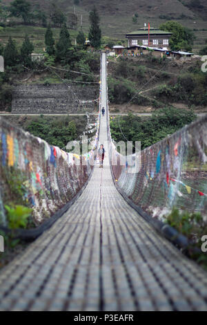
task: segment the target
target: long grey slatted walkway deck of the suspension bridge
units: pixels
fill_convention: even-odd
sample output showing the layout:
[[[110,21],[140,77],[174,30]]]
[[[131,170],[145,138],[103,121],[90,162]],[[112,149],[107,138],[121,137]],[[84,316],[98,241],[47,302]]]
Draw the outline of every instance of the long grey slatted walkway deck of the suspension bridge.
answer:
[[[100,106],[107,110],[106,66],[102,53]],[[108,131],[106,112],[103,169],[96,165],[68,211],[1,270],[0,310],[207,310],[206,272],[117,191],[115,178],[127,187],[137,176],[121,169],[112,176]]]

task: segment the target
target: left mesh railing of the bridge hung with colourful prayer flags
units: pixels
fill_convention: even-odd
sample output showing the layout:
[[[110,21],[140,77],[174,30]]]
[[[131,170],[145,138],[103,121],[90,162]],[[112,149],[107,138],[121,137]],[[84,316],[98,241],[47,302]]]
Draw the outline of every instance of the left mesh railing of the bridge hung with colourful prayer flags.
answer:
[[[68,154],[1,117],[0,139],[0,225],[6,225],[5,203],[18,190],[39,224],[75,198],[92,172],[95,151]]]

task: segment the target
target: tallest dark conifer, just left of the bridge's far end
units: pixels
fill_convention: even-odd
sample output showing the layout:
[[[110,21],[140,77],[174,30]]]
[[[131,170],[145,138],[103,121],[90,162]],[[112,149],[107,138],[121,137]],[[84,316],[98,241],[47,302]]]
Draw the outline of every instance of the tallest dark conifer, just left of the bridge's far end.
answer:
[[[90,20],[90,30],[88,33],[88,39],[90,40],[90,44],[95,48],[99,48],[101,46],[101,28],[99,27],[99,14],[97,12],[97,8],[94,7],[93,10],[89,14]]]

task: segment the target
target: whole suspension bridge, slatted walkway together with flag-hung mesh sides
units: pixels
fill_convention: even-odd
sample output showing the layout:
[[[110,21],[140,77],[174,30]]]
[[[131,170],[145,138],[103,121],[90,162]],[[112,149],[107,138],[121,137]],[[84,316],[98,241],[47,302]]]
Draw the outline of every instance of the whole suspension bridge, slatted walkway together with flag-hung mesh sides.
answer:
[[[60,185],[64,181],[73,182],[70,198],[76,199],[61,218],[1,270],[1,310],[207,310],[206,272],[165,238],[171,236],[173,241],[176,237],[176,243],[185,245],[184,236],[174,236],[176,232],[162,222],[175,201],[178,207],[185,202],[188,209],[206,209],[206,194],[186,185],[184,166],[192,157],[207,162],[207,119],[204,116],[141,151],[139,173],[128,173],[129,162],[120,165],[121,157],[110,140],[106,66],[106,53],[102,53],[100,107],[106,107],[106,115],[100,118],[99,144],[108,143],[103,169],[88,165],[81,180],[78,168],[70,170],[70,177],[62,175],[58,170],[68,165],[59,157],[58,149],[50,153],[46,143],[30,136],[34,151],[45,146],[43,152],[49,156],[47,171],[56,185],[54,202],[58,198],[65,202],[69,189]],[[16,131],[1,120],[1,132],[8,136]],[[29,136],[20,130],[17,133],[17,138]],[[4,151],[1,159],[6,165]],[[33,158],[29,153],[27,156],[32,165],[26,163],[33,170],[32,177],[37,177],[37,185],[46,159],[42,165],[41,158],[35,163],[35,152]],[[117,165],[110,165],[115,158]],[[12,165],[10,154],[6,159]],[[49,186],[43,175],[40,186],[43,192]],[[46,196],[41,201],[34,195],[34,201],[39,210],[49,204],[52,210],[56,204],[51,198],[48,203]]]

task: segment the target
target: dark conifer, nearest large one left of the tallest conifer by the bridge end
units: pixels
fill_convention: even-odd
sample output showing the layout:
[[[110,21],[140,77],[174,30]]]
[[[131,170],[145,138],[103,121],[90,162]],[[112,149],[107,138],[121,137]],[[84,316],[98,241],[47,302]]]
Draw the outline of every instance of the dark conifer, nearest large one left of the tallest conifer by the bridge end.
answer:
[[[68,50],[71,46],[70,34],[68,32],[66,24],[63,24],[59,34],[59,41],[56,45],[56,59],[61,61],[66,59],[68,55]]]

